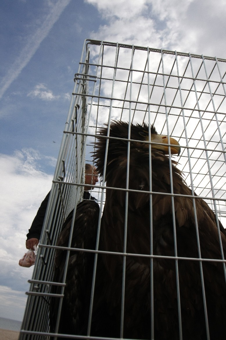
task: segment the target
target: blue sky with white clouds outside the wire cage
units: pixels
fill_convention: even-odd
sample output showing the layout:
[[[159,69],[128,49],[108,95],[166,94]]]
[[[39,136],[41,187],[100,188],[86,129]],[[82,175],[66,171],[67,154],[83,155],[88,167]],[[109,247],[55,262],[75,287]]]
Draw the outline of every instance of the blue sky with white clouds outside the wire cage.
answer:
[[[22,320],[33,267],[19,267],[52,185],[86,38],[226,58],[223,0],[2,0],[0,317]]]

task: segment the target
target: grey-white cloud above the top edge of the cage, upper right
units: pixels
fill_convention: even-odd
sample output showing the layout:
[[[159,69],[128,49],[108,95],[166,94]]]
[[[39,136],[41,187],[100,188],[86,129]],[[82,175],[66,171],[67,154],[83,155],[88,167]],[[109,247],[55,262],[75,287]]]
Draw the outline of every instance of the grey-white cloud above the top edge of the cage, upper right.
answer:
[[[225,57],[222,32],[226,29],[223,1],[211,0],[86,0],[107,24],[91,38]]]

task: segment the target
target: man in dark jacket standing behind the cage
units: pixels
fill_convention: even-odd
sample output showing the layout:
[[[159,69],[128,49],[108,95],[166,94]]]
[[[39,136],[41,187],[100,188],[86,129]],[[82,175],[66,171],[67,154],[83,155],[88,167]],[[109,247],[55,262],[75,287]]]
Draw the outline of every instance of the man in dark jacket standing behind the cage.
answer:
[[[83,200],[96,200],[95,197],[90,195],[89,190],[94,188],[95,184],[98,182],[98,173],[96,172],[96,168],[91,164],[86,163],[85,165],[85,184],[90,184],[90,187],[84,187]],[[34,249],[34,246],[38,245],[40,240],[40,235],[42,232],[42,226],[45,218],[45,212],[47,209],[47,204],[49,200],[50,191],[46,195],[45,199],[42,201],[37,214],[28,229],[27,240],[26,240],[26,248]]]

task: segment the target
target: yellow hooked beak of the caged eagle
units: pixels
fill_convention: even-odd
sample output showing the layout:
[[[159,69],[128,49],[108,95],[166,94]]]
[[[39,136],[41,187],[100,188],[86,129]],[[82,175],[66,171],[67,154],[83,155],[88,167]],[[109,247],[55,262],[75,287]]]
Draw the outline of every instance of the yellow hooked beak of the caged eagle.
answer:
[[[181,152],[180,144],[174,138],[170,137],[169,141],[168,141],[168,137],[165,136],[165,135],[155,135],[155,134],[152,134],[151,135],[151,142],[170,144],[170,153],[171,154],[178,154],[178,156],[180,155],[180,152]],[[151,147],[153,149],[164,151],[164,153],[166,155],[169,154],[169,147],[168,147],[168,145],[165,146],[165,145],[151,144]]]

